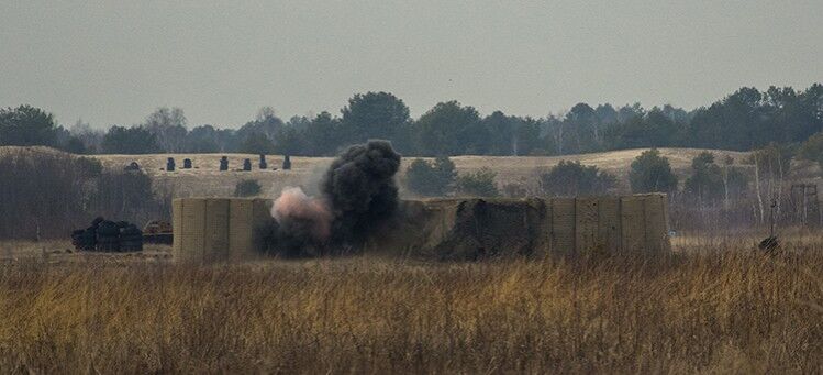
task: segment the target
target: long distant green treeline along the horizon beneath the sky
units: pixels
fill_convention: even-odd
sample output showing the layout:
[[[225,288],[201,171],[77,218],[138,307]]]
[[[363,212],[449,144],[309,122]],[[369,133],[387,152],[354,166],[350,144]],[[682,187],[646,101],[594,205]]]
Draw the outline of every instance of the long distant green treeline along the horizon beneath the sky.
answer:
[[[741,88],[691,111],[671,106],[591,107],[579,103],[546,118],[487,117],[456,101],[418,119],[388,92],[358,93],[340,115],[321,112],[283,121],[270,108],[236,126],[189,129],[182,110],[160,108],[131,126],[70,128],[52,114],[21,106],[0,111],[0,145],[48,145],[74,153],[259,153],[327,156],[368,139],[391,140],[404,155],[565,155],[636,147],[747,151],[769,143],[800,144],[823,130],[823,85],[805,90]]]

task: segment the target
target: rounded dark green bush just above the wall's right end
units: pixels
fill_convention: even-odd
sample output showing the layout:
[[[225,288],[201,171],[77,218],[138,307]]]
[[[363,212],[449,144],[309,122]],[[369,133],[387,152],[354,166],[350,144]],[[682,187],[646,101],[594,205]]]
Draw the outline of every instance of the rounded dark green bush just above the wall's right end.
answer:
[[[677,190],[677,176],[667,157],[657,148],[644,151],[632,162],[629,183],[633,192],[671,192]]]

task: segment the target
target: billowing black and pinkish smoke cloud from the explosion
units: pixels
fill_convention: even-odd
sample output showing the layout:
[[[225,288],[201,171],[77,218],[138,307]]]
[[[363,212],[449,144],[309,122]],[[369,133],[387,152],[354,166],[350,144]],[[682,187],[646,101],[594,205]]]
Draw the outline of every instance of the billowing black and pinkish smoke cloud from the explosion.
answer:
[[[268,247],[311,255],[359,246],[370,230],[396,212],[399,168],[400,155],[387,141],[348,147],[329,167],[320,198],[299,188],[283,190],[271,208],[277,225]]]

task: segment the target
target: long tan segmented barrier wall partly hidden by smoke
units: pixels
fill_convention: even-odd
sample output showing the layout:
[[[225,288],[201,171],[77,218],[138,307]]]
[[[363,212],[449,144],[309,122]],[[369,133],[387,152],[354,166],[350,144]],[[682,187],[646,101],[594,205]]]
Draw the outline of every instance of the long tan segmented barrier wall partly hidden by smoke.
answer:
[[[376,228],[364,251],[430,258],[660,253],[670,250],[667,202],[663,194],[403,201],[401,214]],[[259,229],[271,220],[270,206],[266,199],[175,199],[175,260],[255,256]]]

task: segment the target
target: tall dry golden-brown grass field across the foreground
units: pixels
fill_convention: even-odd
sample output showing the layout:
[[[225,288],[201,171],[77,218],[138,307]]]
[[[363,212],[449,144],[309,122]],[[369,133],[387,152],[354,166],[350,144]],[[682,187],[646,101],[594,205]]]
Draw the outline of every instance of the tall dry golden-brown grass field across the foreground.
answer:
[[[823,254],[0,265],[2,373],[820,373]]]

